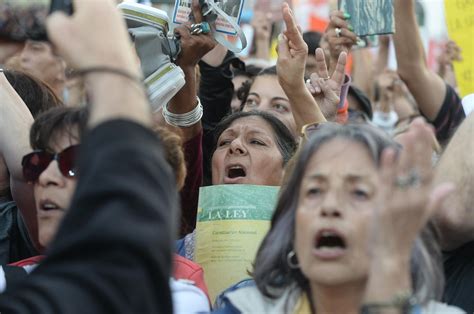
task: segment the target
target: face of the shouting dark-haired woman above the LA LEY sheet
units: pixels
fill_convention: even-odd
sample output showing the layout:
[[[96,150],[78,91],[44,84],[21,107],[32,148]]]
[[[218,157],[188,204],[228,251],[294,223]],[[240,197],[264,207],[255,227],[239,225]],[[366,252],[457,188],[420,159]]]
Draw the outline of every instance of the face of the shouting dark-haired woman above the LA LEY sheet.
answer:
[[[237,119],[219,136],[212,156],[212,184],[280,185],[282,177],[283,157],[264,119]]]

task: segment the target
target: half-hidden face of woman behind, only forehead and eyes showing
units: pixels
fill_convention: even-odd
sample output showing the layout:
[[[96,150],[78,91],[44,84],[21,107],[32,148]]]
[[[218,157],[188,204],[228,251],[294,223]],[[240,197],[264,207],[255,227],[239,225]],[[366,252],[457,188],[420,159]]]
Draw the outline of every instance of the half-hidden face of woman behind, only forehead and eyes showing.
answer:
[[[276,75],[261,75],[255,78],[243,109],[251,110],[266,111],[283,122],[292,133],[296,132],[290,101]]]

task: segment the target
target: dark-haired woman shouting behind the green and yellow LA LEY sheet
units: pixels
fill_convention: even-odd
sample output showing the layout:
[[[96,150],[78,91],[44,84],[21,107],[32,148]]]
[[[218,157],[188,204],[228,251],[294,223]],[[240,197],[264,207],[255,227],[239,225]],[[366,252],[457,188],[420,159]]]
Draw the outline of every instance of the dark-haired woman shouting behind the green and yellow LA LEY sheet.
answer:
[[[214,130],[212,185],[279,186],[296,148],[294,136],[273,115],[263,111],[234,113]],[[178,240],[177,253],[193,260],[195,236],[194,231]]]

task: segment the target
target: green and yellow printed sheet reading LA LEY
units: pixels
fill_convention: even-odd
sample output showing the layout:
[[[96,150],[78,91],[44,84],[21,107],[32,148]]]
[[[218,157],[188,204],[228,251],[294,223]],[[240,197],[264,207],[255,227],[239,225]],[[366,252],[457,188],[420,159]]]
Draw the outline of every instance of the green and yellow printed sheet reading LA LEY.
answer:
[[[195,261],[213,301],[245,278],[266,235],[279,187],[215,185],[199,191]]]

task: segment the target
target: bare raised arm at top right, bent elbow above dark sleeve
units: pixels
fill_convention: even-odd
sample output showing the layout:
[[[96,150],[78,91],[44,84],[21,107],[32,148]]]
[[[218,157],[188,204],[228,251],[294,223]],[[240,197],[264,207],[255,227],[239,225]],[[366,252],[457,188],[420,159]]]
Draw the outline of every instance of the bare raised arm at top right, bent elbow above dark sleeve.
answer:
[[[428,68],[415,15],[414,0],[395,0],[396,32],[393,35],[398,74],[430,121],[441,110],[446,95],[443,79]]]

